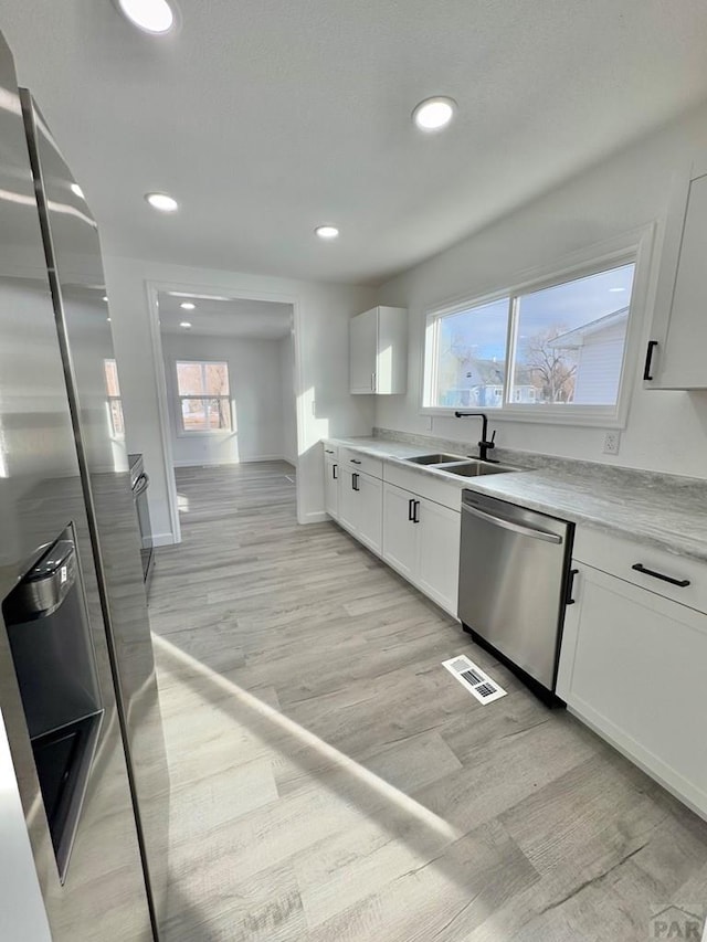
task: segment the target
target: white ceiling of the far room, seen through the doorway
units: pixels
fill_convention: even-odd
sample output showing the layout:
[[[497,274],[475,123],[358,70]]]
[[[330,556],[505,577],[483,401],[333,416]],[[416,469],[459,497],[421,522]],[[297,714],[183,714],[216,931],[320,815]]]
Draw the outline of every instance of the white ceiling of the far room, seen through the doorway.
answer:
[[[163,334],[198,334],[202,337],[246,337],[277,340],[292,329],[292,305],[275,301],[215,300],[199,297],[175,297],[160,292],[159,324]],[[194,310],[182,310],[180,304],[191,301]],[[180,327],[181,321],[191,329]]]

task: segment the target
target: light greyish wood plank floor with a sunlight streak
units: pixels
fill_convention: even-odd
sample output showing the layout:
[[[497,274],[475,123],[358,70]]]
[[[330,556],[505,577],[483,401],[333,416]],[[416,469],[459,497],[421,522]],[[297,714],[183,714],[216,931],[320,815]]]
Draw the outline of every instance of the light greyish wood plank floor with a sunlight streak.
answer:
[[[288,465],[177,472],[150,612],[166,942],[646,940],[707,903],[707,825],[334,523]],[[482,706],[441,661],[509,696]]]

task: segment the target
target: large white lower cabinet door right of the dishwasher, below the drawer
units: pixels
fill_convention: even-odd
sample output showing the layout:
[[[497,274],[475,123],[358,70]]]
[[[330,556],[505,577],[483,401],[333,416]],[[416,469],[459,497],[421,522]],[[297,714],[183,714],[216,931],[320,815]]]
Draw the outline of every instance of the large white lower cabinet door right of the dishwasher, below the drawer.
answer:
[[[558,694],[707,814],[707,616],[590,567],[576,568]]]

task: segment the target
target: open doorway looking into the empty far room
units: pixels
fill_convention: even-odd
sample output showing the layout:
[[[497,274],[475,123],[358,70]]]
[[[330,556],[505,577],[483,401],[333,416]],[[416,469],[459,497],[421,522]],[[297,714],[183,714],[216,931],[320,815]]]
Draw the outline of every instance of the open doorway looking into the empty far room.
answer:
[[[282,478],[296,507],[294,305],[168,288],[155,303],[176,540],[201,478],[224,501],[236,477]]]

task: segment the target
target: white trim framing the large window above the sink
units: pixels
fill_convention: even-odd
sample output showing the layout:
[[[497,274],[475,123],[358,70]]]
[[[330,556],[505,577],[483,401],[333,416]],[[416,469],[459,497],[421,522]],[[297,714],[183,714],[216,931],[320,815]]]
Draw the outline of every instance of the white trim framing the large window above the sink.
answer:
[[[422,362],[420,375],[420,415],[452,417],[455,409],[447,406],[425,405],[425,390],[432,388],[432,374],[436,368],[436,350],[434,343],[429,343],[430,336],[436,339],[433,329],[434,321],[456,311],[466,310],[489,304],[500,298],[513,298],[519,294],[541,290],[562,282],[581,278],[597,274],[621,264],[635,262],[631,304],[629,308],[629,322],[626,326],[626,340],[624,343],[623,363],[621,368],[621,382],[615,406],[603,405],[534,405],[505,403],[502,408],[486,406],[482,411],[487,412],[489,420],[494,422],[521,422],[549,425],[587,425],[602,428],[625,428],[631,404],[631,395],[635,387],[639,353],[642,348],[642,331],[647,310],[648,285],[651,282],[652,254],[654,244],[655,224],[643,226],[639,230],[625,233],[616,239],[602,242],[572,253],[562,260],[561,267],[538,267],[524,272],[513,284],[506,285],[497,290],[479,295],[457,296],[444,304],[437,305],[429,310],[424,319],[424,335],[422,341]],[[513,343],[513,319],[508,318],[508,337],[506,338],[506,373],[505,389],[509,389],[509,375],[514,357],[511,356]]]

